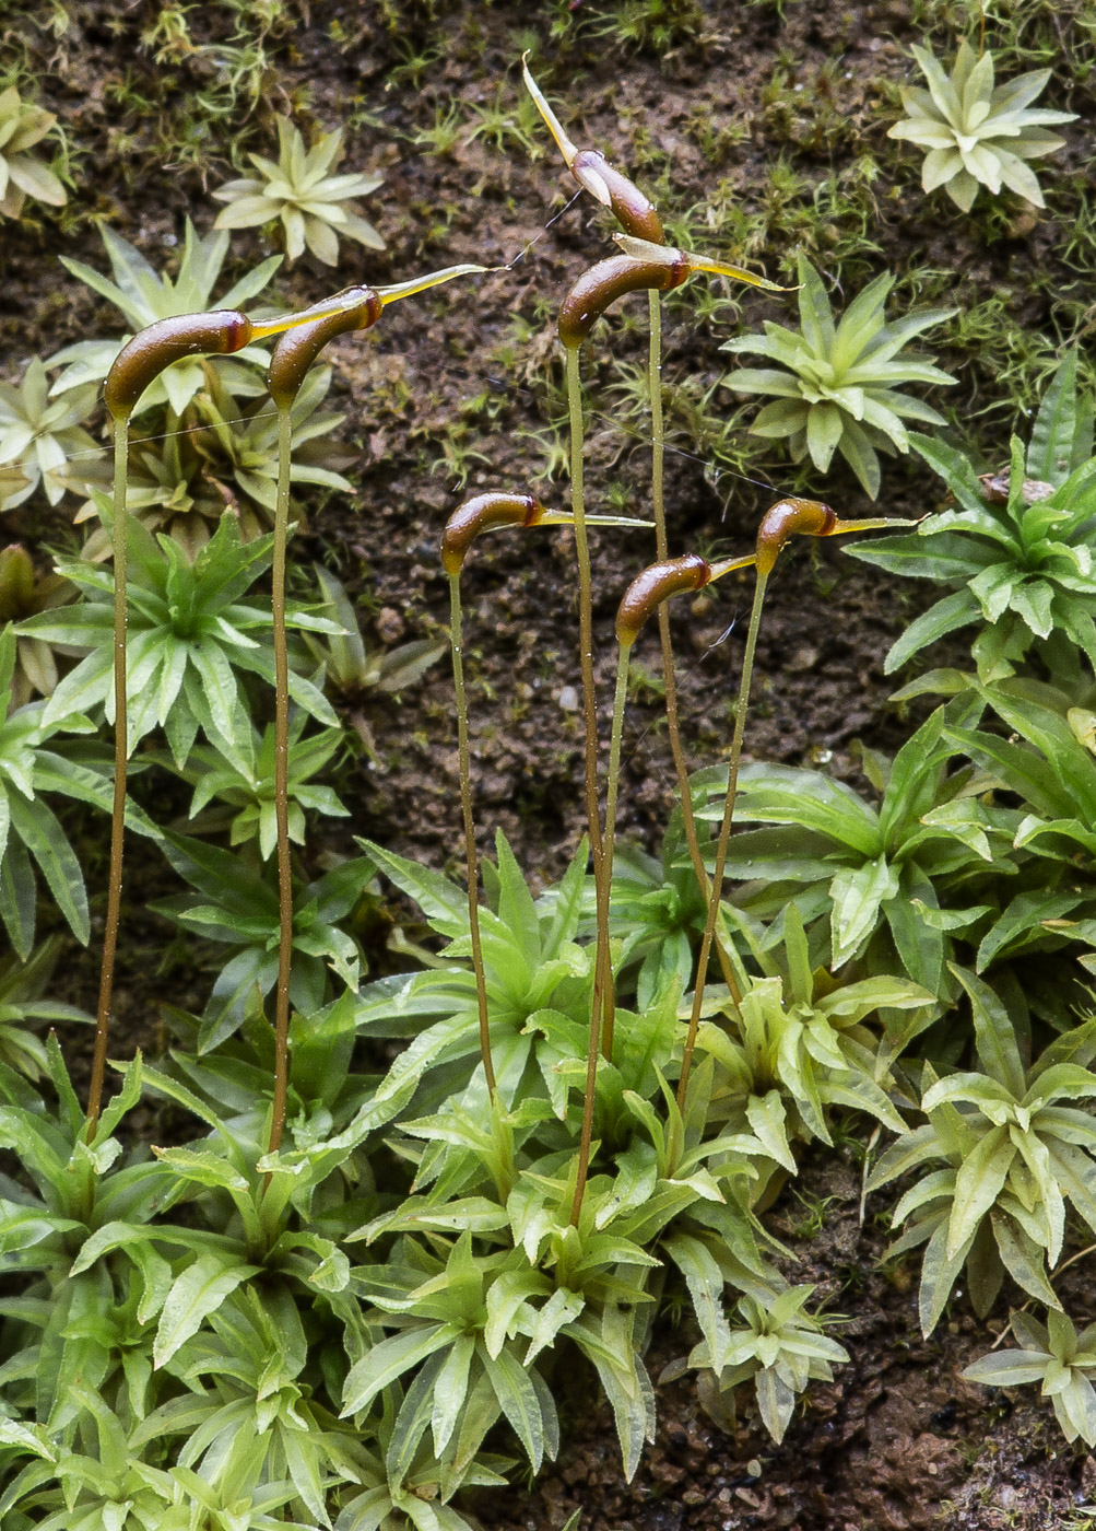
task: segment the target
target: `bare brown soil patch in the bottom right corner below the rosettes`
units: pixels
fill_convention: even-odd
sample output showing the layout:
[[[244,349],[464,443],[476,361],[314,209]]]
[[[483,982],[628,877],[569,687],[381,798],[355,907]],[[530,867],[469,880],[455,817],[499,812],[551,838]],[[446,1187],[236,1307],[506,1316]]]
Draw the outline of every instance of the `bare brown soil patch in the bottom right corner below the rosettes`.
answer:
[[[824,1226],[807,1234],[794,1196],[771,1223],[801,1263],[796,1280],[846,1315],[834,1330],[851,1361],[811,1384],[782,1445],[773,1445],[745,1390],[733,1435],[700,1410],[690,1382],[658,1390],[658,1436],[623,1484],[608,1409],[577,1412],[560,1461],[533,1494],[478,1507],[491,1531],[557,1531],[582,1510],[583,1531],[1050,1531],[1091,1502],[1096,1470],[1065,1447],[1053,1418],[1023,1393],[987,1392],[961,1376],[990,1349],[987,1329],[952,1304],[952,1321],[923,1340],[915,1271],[885,1266],[882,1208],[859,1222],[860,1170],[842,1153],[808,1162],[798,1193]],[[874,1199],[879,1202],[879,1197]],[[873,1211],[879,1216],[873,1217]],[[799,1237],[796,1236],[799,1232]],[[1076,1266],[1075,1266],[1076,1269]],[[1075,1300],[1091,1306],[1084,1283]],[[1067,1300],[1068,1306],[1068,1300]],[[647,1355],[657,1379],[693,1337],[664,1327]]]

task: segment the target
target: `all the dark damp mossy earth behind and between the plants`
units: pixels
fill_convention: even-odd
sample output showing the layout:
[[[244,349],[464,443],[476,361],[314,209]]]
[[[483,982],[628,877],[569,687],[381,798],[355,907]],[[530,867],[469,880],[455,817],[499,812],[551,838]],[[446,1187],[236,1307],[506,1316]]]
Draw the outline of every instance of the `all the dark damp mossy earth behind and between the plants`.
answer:
[[[211,227],[213,188],[245,150],[269,147],[272,113],[292,113],[305,127],[344,126],[344,168],[386,176],[366,211],[387,251],[344,242],[334,280],[306,257],[279,274],[280,300],[303,305],[363,277],[400,280],[458,260],[511,266],[524,253],[511,269],[400,305],[375,334],[329,348],[355,493],[311,502],[294,562],[332,568],[381,645],[441,634],[447,586],[436,539],[459,495],[531,487],[550,504],[566,502],[565,476],[545,472],[559,467],[562,439],[553,312],[569,280],[606,251],[603,217],[588,199],[565,210],[572,185],[546,135],[528,135],[530,118],[519,113],[517,60],[533,47],[542,83],[574,112],[572,135],[629,167],[655,193],[670,233],[684,228],[704,248],[761,262],[776,280],[791,279],[804,248],[837,294],[891,269],[899,276],[892,306],[958,306],[958,322],[926,337],[960,378],[934,403],[975,435],[989,465],[1000,465],[1009,430],[1038,397],[1062,341],[1084,332],[1096,292],[1096,248],[1085,239],[1096,35],[1081,0],[1055,8],[1003,0],[987,9],[1035,49],[1038,66],[1053,66],[1047,104],[1081,116],[1067,149],[1047,164],[1044,213],[1013,204],[964,217],[941,196],[926,201],[917,156],[886,139],[897,86],[911,78],[909,44],[928,37],[948,49],[972,11],[977,17],[977,6],[948,0],[5,5],[3,69],[34,80],[37,100],[58,115],[77,190],[61,216],[0,225],[0,371],[11,378],[29,355],[116,332],[113,311],[57,259],[101,268],[96,219],[159,266],[178,248],[185,216],[199,231]],[[667,18],[669,35],[632,35],[629,18],[647,14]],[[253,54],[253,75],[233,95],[225,83],[231,49],[245,44],[257,49],[257,61]],[[444,142],[438,124],[452,113],[459,132]],[[260,233],[234,234],[225,280],[266,253]],[[680,449],[667,456],[672,551],[745,550],[761,510],[778,496],[733,478],[735,462],[715,455],[721,441],[726,447],[727,421],[744,423],[752,412],[719,386],[730,363],[718,346],[739,326],[785,318],[787,308],[781,299],[736,294],[738,308],[723,302],[700,323],[693,299],[692,288],[677,294],[664,322],[667,421]],[[602,326],[583,355],[591,508],[649,513],[641,395],[626,387],[643,346],[637,309]],[[614,392],[621,378],[623,390]],[[764,444],[750,453],[738,465],[778,491],[811,488],[842,514],[868,511],[851,475],[834,470],[819,484],[796,476]],[[923,467],[885,459],[885,511],[921,514],[938,504]],[[21,507],[3,517],[5,531],[35,548],[44,566],[46,550],[73,545],[64,510]],[[615,534],[592,540],[608,709],[611,615],[651,554]],[[531,537],[485,540],[465,576],[481,850],[501,827],[542,882],[559,874],[580,833],[572,591],[572,547],[560,531],[536,545]],[[727,580],[674,614],[692,766],[726,758],[742,640],[736,622],[747,605],[749,585]],[[758,652],[749,756],[816,764],[859,781],[857,741],[894,749],[908,730],[888,709],[894,683],[882,660],[917,609],[908,586],[843,557],[834,544],[788,556],[771,585]],[[672,764],[654,635],[635,660],[620,834],[655,848]],[[946,655],[937,651],[934,661]],[[349,830],[340,822],[335,836],[328,825],[326,845],[317,836],[309,854],[321,867],[325,850],[344,848],[355,833],[455,870],[456,743],[444,664],[398,701],[363,706],[377,759],[347,752],[337,766],[332,784],[352,811]],[[182,811],[181,790],[165,790],[179,793]],[[158,804],[161,814],[165,805],[170,811],[170,796]],[[83,816],[72,822],[89,888],[101,891],[106,827]],[[155,1046],[159,1001],[197,1007],[208,991],[210,972],[194,968],[147,911],[167,891],[162,863],[133,845],[115,1056]],[[412,914],[375,906],[367,919],[358,934],[373,971],[392,969],[398,958],[386,937]],[[63,995],[92,1009],[93,946],[66,960]],[[159,1133],[162,1122],[148,1113],[153,1128]],[[912,1269],[882,1265],[883,1209],[869,1200],[860,1222],[860,1156],[854,1142],[808,1156],[773,1214],[775,1231],[801,1258],[796,1278],[817,1283],[817,1297],[848,1315],[837,1332],[853,1358],[833,1384],[811,1386],[782,1447],[749,1407],[736,1433],[723,1435],[693,1389],[674,1382],[660,1389],[657,1444],[625,1485],[609,1413],[591,1415],[577,1389],[563,1413],[559,1462],[530,1488],[484,1496],[476,1507],[484,1525],[548,1531],[576,1508],[585,1531],[1087,1525],[1096,1468],[1081,1448],[1065,1447],[1050,1410],[1032,1390],[1006,1399],[961,1381],[986,1347],[964,1301],[955,1300],[951,1323],[921,1340]],[[1075,1315],[1090,1318],[1084,1271],[1073,1268],[1067,1291]],[[1001,1323],[998,1306],[990,1326]],[[664,1323],[652,1375],[689,1344],[687,1332]]]

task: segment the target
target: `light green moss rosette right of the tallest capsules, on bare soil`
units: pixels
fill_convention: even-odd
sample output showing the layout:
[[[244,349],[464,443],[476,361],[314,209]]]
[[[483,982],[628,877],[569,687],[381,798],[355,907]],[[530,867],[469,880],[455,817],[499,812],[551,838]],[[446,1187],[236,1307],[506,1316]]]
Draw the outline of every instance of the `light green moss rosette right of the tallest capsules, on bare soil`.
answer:
[[[840,452],[860,484],[879,495],[879,453],[909,450],[903,419],[943,426],[943,418],[902,383],[954,383],[923,357],[900,357],[906,343],[955,314],[926,309],[886,322],[883,305],[892,276],[879,276],[848,306],[839,323],[822,277],[799,257],[799,332],[765,320],[764,335],[739,335],[723,351],[768,357],[778,367],[742,367],[727,386],[736,393],[775,393],[750,426],[755,436],[787,436],[794,462],[810,453],[819,473]]]

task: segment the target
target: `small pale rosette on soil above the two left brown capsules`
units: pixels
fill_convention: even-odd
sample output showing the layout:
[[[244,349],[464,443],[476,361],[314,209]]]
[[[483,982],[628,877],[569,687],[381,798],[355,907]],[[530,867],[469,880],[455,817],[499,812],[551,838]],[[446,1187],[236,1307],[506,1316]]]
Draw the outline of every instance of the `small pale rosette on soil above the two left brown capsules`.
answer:
[[[297,260],[308,246],[326,266],[338,263],[338,234],[357,239],[367,250],[384,250],[381,236],[351,201],[369,196],[384,178],[329,175],[343,153],[341,129],[320,133],[309,150],[305,150],[300,130],[288,118],[279,119],[277,132],[277,162],[250,155],[259,175],[230,181],[213,193],[219,202],[228,204],[217,213],[214,228],[256,228],[279,217],[289,260]]]

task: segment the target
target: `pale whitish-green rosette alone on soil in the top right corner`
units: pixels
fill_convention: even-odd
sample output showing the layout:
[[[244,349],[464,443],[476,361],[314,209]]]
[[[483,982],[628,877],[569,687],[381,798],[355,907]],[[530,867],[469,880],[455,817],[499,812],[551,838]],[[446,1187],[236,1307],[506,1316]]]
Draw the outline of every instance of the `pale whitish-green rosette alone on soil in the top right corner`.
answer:
[[[1045,89],[1050,70],[1035,69],[995,87],[993,55],[975,54],[966,40],[960,43],[951,77],[928,47],[914,47],[914,58],[929,89],[903,89],[906,115],[888,136],[928,149],[921,187],[926,191],[944,187],[964,213],[970,211],[980,185],[990,196],[1000,196],[1004,185],[1035,207],[1044,207],[1039,182],[1027,161],[1052,155],[1065,142],[1047,132],[1049,124],[1076,119],[1075,112],[1030,109],[1029,103]]]

